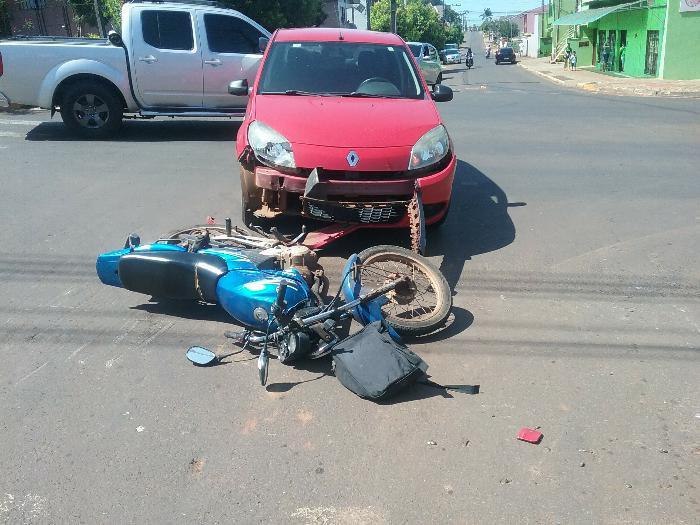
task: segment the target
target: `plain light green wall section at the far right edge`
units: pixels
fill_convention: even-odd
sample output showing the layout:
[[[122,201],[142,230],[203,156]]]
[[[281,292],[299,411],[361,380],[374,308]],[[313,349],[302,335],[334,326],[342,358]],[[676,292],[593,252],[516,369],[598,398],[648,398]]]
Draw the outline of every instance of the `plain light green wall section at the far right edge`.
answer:
[[[660,76],[673,80],[700,78],[700,11],[681,13],[679,7],[679,0],[668,0]]]

